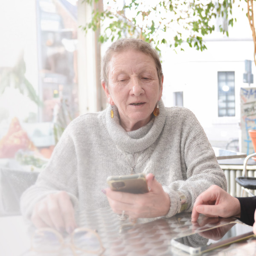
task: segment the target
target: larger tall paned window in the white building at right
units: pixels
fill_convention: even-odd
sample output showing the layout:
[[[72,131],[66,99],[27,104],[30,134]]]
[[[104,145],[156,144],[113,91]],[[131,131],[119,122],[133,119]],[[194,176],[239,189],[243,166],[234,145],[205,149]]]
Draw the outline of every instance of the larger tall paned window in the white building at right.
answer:
[[[235,72],[218,72],[218,116],[235,116]]]

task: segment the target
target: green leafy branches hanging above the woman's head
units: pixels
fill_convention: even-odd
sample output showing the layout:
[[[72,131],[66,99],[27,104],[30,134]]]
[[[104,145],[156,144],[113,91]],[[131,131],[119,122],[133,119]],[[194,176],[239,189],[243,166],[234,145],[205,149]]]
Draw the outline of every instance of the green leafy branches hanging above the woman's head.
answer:
[[[241,0],[236,0],[241,1]],[[93,4],[92,0],[84,0]],[[97,2],[97,1],[95,1]],[[103,11],[93,10],[92,20],[83,29],[100,29],[101,43],[120,38],[141,38],[159,49],[160,44],[181,47],[188,44],[203,51],[203,37],[215,30],[215,18],[222,17],[229,26],[235,0],[109,0]],[[154,3],[154,4],[153,4]],[[223,34],[228,31],[219,27]]]

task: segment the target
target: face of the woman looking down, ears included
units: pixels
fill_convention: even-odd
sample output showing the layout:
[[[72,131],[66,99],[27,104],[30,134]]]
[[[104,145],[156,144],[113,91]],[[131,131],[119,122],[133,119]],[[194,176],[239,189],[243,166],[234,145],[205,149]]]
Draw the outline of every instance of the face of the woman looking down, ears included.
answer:
[[[102,86],[108,102],[118,108],[122,127],[133,131],[146,125],[163,90],[154,60],[131,49],[117,52],[109,63],[108,81],[108,87]]]

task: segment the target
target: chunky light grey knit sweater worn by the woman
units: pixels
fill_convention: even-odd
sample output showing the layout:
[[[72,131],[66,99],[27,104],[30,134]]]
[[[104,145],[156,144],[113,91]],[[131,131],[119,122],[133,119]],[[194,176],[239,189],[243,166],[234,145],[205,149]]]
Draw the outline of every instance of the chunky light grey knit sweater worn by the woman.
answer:
[[[21,211],[29,218],[38,200],[58,190],[69,193],[79,209],[107,207],[102,193],[112,175],[153,173],[168,192],[171,207],[166,217],[180,209],[177,190],[188,198],[192,210],[197,196],[212,184],[227,189],[224,172],[195,115],[186,108],[165,108],[144,127],[126,132],[114,107],[74,119],[55,147],[36,184],[21,198]]]

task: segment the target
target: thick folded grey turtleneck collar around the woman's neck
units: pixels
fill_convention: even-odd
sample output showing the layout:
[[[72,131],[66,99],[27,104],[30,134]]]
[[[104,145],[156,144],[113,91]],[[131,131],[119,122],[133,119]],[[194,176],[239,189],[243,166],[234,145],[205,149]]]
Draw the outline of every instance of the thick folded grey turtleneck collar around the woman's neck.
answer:
[[[113,142],[122,150],[131,154],[143,151],[152,145],[160,135],[165,119],[166,111],[162,99],[158,103],[159,115],[153,116],[148,124],[143,127],[127,132],[120,125],[119,113],[116,106],[113,106],[114,117],[111,118],[111,106],[106,109],[105,119],[106,128]]]

